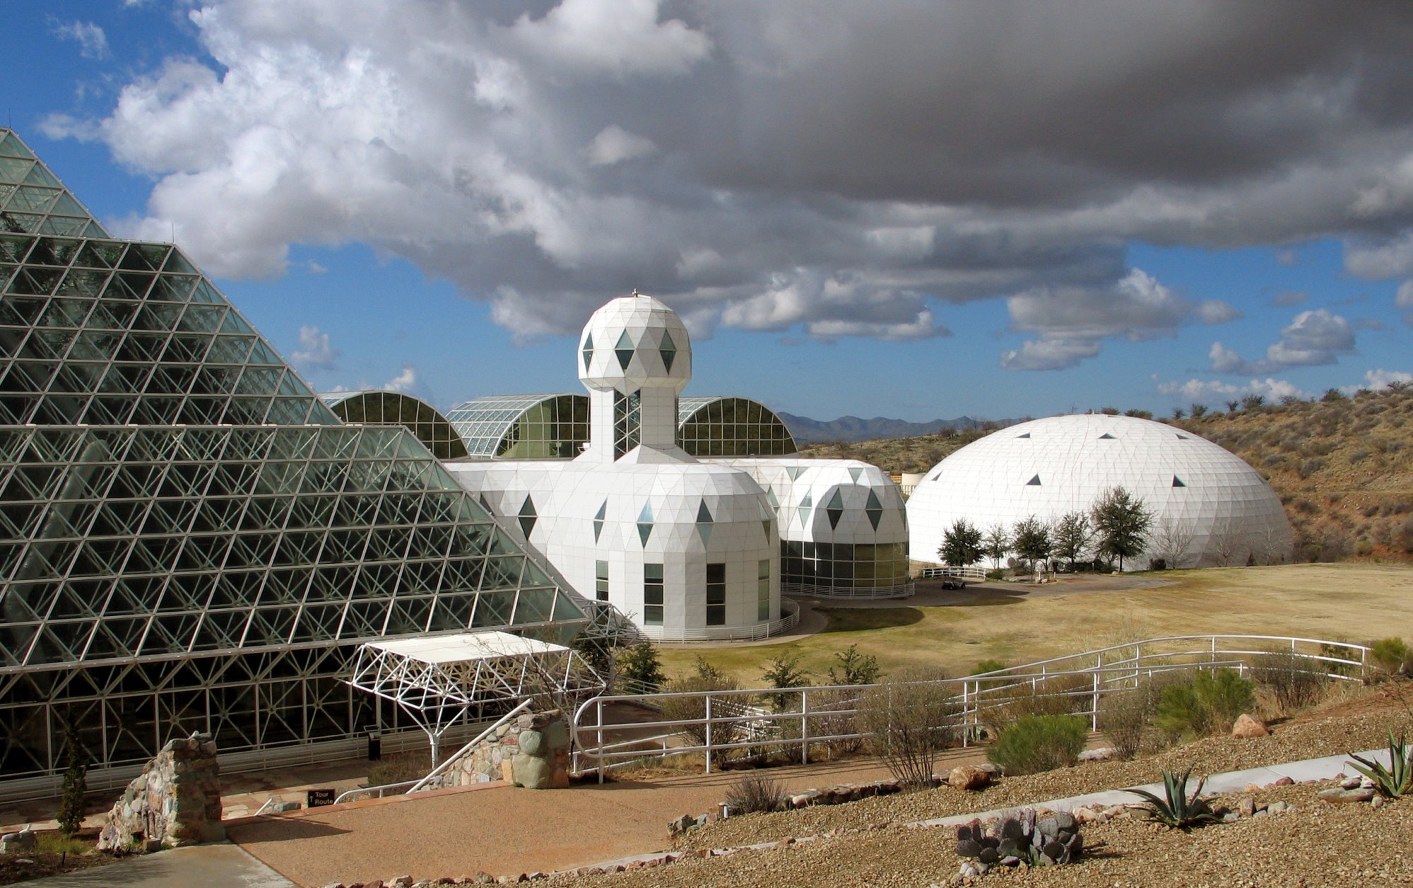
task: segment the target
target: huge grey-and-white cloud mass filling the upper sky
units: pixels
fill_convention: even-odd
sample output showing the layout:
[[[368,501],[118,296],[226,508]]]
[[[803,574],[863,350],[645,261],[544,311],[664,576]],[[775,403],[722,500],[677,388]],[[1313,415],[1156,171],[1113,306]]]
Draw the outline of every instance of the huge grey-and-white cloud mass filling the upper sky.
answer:
[[[524,335],[633,287],[698,331],[818,338],[945,335],[947,304],[1009,298],[1037,338],[1003,359],[1044,369],[1234,317],[1135,303],[1132,240],[1334,235],[1354,273],[1413,273],[1403,3],[213,0],[191,17],[219,66],[171,59],[96,126],[48,129],[96,132],[154,175],[122,228],[175,225],[223,276],[362,240]]]

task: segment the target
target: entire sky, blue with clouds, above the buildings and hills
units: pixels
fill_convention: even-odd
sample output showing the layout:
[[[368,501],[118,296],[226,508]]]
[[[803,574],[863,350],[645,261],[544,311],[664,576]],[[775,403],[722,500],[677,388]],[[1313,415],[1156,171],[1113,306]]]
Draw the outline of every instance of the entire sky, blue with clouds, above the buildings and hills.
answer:
[[[8,124],[321,390],[577,390],[637,287],[688,393],[1167,414],[1413,370],[1413,13],[1260,6],[89,0],[0,45]]]

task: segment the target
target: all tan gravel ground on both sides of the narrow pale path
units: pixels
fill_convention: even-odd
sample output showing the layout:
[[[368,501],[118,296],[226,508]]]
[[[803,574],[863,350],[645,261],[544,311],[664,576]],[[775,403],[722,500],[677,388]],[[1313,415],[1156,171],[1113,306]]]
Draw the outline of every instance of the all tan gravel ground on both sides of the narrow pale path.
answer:
[[[851,805],[732,817],[694,830],[681,847],[709,850],[763,841],[781,846],[552,884],[562,888],[945,885],[961,864],[952,831],[909,829],[904,823],[1147,783],[1159,778],[1160,768],[1195,765],[1194,773],[1205,775],[1368,749],[1382,747],[1390,727],[1399,730],[1407,724],[1400,691],[1385,689],[1276,725],[1266,738],[1211,738],[1130,762],[1091,762],[1009,778],[983,792],[944,786]],[[1085,846],[1092,854],[1087,853],[1084,861],[1046,870],[992,871],[978,884],[1113,888],[1413,884],[1409,843],[1413,799],[1382,809],[1332,806],[1314,798],[1324,786],[1280,786],[1252,793],[1260,803],[1286,800],[1299,810],[1191,834],[1126,817],[1087,824]],[[1218,802],[1235,807],[1238,799],[1225,796]],[[818,839],[788,844],[791,839],[810,836]]]

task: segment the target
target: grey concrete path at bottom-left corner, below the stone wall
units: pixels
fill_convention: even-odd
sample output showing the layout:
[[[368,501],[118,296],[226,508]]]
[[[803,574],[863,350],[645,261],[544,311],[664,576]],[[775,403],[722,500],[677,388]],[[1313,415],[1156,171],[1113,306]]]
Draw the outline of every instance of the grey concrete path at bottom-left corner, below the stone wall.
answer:
[[[25,882],[35,888],[298,888],[237,844],[143,854],[106,867]]]

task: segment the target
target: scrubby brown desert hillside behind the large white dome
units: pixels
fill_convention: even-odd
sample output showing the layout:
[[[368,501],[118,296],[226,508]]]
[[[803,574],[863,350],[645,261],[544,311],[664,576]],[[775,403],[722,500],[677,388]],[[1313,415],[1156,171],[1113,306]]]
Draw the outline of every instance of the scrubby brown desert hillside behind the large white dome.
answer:
[[[1280,403],[1246,397],[1224,410],[1194,404],[1161,421],[1221,444],[1270,481],[1296,530],[1297,559],[1413,556],[1413,386],[1354,396],[1331,389],[1318,400]],[[810,444],[801,452],[926,472],[991,431]]]

